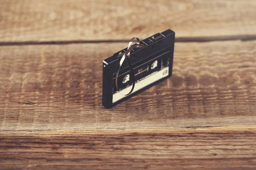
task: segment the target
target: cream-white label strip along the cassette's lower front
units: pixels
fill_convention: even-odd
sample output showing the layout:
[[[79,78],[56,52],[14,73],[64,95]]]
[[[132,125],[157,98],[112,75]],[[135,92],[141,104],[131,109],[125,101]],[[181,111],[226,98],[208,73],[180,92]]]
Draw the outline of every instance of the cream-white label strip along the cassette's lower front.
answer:
[[[160,79],[162,79],[164,77],[167,77],[168,75],[169,75],[169,67],[163,68],[160,71],[156,71],[153,74],[148,75],[148,77],[145,77],[145,79],[142,79],[142,80],[140,80],[139,82],[137,82],[135,84],[134,90],[133,90],[133,92],[131,94],[133,94],[134,92],[144,88],[147,85],[150,85],[153,82],[156,82],[157,80],[160,80]],[[131,88],[132,88],[132,86],[130,85],[129,87],[121,90],[120,92],[122,94],[127,94],[127,93],[129,93],[129,91],[131,91]],[[113,103],[117,102],[120,99],[126,97],[126,96],[124,96],[122,94],[120,94],[119,92],[113,94],[112,102]]]

